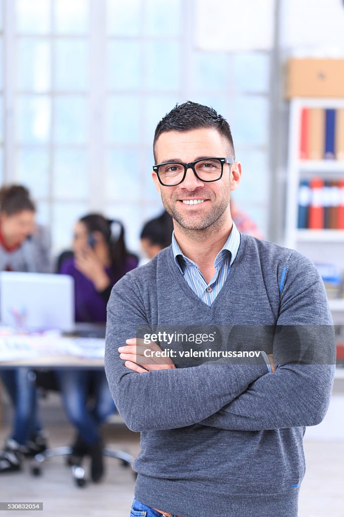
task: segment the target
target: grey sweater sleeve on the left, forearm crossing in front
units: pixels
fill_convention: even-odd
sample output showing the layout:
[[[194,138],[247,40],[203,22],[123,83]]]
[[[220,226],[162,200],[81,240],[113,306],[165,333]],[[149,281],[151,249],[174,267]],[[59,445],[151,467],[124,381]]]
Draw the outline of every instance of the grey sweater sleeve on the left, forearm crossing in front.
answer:
[[[132,431],[175,429],[199,422],[235,399],[268,372],[258,365],[201,364],[137,373],[120,359],[118,347],[148,325],[144,302],[130,277],[113,287],[107,305],[105,372],[115,404]]]

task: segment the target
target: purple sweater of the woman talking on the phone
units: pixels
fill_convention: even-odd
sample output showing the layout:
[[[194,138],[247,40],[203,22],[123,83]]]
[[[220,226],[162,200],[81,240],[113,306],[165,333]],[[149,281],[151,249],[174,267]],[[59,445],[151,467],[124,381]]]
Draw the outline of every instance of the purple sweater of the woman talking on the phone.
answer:
[[[134,257],[128,256],[124,266],[114,275],[110,268],[105,271],[111,279],[111,287],[122,278],[128,271],[137,266]],[[74,258],[67,258],[60,267],[60,273],[70,275],[74,278],[74,294],[75,294],[75,321],[87,323],[105,323],[106,322],[106,303],[107,297],[104,292],[98,292],[93,283],[83,275],[74,265]],[[105,295],[105,296],[104,296]]]

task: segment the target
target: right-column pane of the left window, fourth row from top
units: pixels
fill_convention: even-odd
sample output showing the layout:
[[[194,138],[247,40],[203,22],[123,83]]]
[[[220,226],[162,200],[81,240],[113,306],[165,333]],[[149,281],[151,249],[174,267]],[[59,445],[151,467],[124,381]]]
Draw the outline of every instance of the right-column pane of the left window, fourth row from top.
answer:
[[[55,197],[86,199],[89,194],[89,170],[86,150],[56,149],[54,163]]]

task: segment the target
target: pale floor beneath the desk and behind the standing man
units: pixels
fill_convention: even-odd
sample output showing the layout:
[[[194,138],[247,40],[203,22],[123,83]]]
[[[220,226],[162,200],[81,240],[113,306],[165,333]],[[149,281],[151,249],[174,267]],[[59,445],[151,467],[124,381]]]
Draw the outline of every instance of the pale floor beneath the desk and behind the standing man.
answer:
[[[138,453],[137,433],[121,424],[109,425],[105,431],[107,442],[133,455]],[[55,425],[49,432],[53,446],[68,444],[72,435],[65,424]],[[6,430],[0,429],[1,442],[5,436]],[[299,517],[344,517],[344,441],[305,440],[305,454],[307,473],[301,489]],[[42,501],[43,515],[49,517],[129,517],[135,483],[131,469],[112,459],[107,459],[106,465],[102,483],[77,488],[62,458],[46,463],[38,478],[29,474],[26,464],[21,473],[1,476],[0,500]],[[10,515],[19,514],[23,512]],[[2,515],[5,517],[5,512]]]

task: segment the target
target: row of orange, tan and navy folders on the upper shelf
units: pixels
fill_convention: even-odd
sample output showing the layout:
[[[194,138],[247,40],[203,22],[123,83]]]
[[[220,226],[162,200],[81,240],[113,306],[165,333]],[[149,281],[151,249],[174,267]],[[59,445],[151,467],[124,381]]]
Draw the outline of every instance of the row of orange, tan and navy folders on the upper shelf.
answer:
[[[300,158],[344,160],[344,108],[301,110]]]

